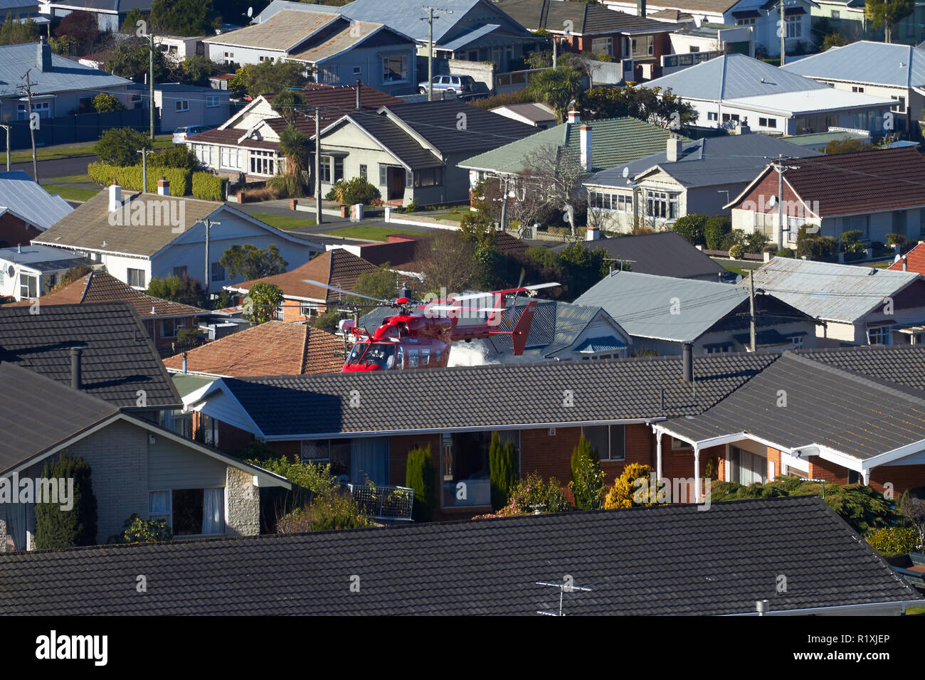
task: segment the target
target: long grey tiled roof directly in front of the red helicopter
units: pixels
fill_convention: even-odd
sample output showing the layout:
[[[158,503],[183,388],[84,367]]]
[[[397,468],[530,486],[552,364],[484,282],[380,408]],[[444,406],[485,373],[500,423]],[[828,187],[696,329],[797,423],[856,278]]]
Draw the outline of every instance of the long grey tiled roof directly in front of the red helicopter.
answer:
[[[544,427],[698,414],[770,365],[779,354],[698,356],[697,394],[681,357],[462,366],[436,370],[224,378],[265,437]],[[661,407],[664,390],[665,406]],[[351,391],[360,407],[351,407]],[[566,406],[572,390],[573,406]]]

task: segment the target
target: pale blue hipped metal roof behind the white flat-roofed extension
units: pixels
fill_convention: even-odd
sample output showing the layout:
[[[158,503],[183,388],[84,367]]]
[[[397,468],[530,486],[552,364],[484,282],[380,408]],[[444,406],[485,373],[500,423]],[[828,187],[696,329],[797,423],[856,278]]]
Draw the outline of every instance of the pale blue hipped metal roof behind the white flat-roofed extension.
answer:
[[[821,82],[788,73],[745,55],[717,56],[697,66],[649,80],[646,87],[660,87],[662,90],[671,88],[672,93],[682,97],[708,100],[832,90]]]

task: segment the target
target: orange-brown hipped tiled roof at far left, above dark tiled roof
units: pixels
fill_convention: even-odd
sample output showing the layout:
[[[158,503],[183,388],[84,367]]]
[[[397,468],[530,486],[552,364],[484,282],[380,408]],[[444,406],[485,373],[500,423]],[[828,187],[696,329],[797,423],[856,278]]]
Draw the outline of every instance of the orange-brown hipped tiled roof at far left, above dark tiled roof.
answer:
[[[78,278],[67,288],[43,295],[41,303],[45,304],[92,304],[92,303],[129,303],[141,316],[160,318],[165,316],[196,316],[204,312],[199,307],[189,304],[172,303],[151,295],[136,291],[105,271],[94,271]],[[10,303],[9,306],[28,306],[30,301]],[[154,313],[152,313],[154,312]]]

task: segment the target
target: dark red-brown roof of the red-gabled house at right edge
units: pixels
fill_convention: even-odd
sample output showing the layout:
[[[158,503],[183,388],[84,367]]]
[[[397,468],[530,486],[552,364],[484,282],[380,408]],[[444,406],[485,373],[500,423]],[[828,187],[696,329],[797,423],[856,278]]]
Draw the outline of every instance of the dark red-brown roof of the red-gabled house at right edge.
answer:
[[[925,159],[912,146],[800,158],[791,165],[784,181],[810,207],[819,201],[821,216],[925,206]]]

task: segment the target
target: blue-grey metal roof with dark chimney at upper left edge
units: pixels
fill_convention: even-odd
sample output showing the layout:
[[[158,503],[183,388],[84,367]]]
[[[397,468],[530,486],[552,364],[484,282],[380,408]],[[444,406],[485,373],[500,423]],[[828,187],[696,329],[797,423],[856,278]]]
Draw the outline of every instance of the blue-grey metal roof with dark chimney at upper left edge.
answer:
[[[71,90],[105,91],[129,85],[131,80],[118,78],[105,71],[83,66],[65,56],[52,55],[52,68],[38,68],[38,43],[0,46],[0,97],[19,94],[24,84],[22,75],[32,69],[31,77],[38,81],[33,94],[54,94]]]

